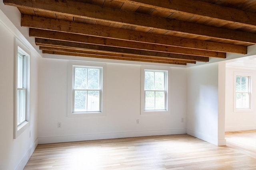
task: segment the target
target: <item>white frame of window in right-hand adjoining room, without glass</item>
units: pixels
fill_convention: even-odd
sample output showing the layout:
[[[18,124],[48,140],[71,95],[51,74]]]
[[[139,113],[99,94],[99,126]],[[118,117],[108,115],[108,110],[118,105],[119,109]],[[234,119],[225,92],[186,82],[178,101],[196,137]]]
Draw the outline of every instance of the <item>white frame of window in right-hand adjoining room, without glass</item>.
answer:
[[[252,73],[250,72],[234,72],[234,112],[252,111]],[[236,77],[248,77],[248,91],[249,91],[249,108],[236,108]]]

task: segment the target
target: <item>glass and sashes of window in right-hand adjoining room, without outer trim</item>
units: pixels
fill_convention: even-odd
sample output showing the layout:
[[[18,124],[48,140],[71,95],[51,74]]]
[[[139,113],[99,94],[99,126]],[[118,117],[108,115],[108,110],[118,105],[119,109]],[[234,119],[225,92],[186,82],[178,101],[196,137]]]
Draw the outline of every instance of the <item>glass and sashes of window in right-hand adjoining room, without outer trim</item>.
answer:
[[[250,108],[250,76],[236,76],[236,108]]]

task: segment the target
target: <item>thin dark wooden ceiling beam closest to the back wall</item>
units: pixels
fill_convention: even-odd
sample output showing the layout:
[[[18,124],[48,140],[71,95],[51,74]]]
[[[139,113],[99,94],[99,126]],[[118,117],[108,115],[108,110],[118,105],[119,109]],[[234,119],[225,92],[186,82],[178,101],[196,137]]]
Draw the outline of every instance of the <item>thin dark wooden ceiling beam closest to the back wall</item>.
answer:
[[[43,54],[68,55],[68,56],[92,57],[92,58],[100,58],[100,59],[114,59],[114,60],[125,60],[125,61],[140,61],[140,62],[150,62],[150,63],[164,63],[164,64],[186,65],[186,63],[171,62],[171,61],[158,61],[158,60],[147,60],[147,59],[134,59],[134,58],[128,58],[128,57],[103,56],[103,55],[92,55],[92,54],[81,54],[81,53],[69,53],[69,52],[58,52],[58,51],[46,51],[46,50],[43,50]]]

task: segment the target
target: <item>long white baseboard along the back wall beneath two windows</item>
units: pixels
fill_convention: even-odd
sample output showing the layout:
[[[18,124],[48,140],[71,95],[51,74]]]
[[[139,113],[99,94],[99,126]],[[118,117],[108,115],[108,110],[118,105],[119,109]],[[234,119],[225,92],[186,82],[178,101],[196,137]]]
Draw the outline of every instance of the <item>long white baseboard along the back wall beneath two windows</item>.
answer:
[[[128,132],[114,132],[114,133],[38,137],[38,144],[90,141],[90,140],[99,140],[99,139],[115,139],[115,138],[125,138],[125,137],[156,136],[156,135],[178,135],[178,134],[186,134],[186,129],[165,129],[165,130],[153,130],[153,131],[128,131]]]

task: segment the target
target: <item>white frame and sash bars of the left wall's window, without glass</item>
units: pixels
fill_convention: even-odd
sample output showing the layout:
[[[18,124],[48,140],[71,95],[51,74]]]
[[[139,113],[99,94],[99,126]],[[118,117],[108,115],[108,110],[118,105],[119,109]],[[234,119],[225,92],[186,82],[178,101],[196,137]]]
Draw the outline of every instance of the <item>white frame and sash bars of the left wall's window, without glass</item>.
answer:
[[[29,112],[29,86],[30,86],[30,51],[20,41],[16,40],[16,47],[14,50],[14,139],[16,139],[21,133],[23,133],[30,126],[30,112]],[[18,53],[24,56],[24,87],[18,88]],[[18,125],[18,90],[25,90],[25,121]]]

